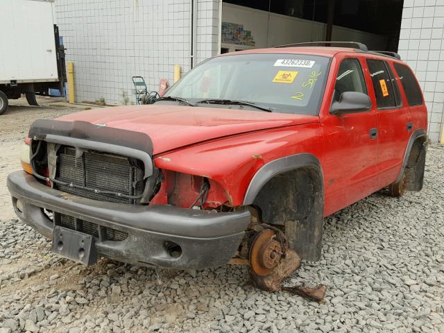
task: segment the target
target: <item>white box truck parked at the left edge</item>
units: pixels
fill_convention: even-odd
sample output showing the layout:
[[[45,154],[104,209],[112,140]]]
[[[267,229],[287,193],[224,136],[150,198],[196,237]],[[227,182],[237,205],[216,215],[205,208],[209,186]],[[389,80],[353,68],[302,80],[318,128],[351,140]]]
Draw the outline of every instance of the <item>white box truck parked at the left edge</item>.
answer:
[[[53,22],[53,1],[0,0],[0,114],[8,99],[26,95],[37,105],[35,93],[65,85],[65,49]]]

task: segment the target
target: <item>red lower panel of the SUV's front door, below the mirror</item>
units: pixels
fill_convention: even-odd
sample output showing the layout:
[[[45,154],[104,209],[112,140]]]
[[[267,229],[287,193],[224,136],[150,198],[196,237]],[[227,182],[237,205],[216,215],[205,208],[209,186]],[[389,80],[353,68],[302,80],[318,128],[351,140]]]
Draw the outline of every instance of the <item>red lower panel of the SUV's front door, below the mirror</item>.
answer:
[[[325,215],[330,215],[376,190],[377,139],[370,138],[370,129],[377,128],[377,117],[348,114],[325,123]]]

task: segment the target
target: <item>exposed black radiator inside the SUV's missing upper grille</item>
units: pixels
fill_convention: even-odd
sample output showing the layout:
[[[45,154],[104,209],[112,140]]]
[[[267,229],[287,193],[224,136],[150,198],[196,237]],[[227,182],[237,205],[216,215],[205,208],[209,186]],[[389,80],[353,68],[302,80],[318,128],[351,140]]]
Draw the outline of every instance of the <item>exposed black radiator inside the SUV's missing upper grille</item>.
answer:
[[[97,151],[83,151],[80,156],[76,157],[76,149],[69,146],[62,146],[58,151],[56,179],[77,186],[112,191],[126,196],[142,196],[145,186],[142,162]],[[57,187],[60,191],[111,203],[138,204],[140,201],[140,199],[125,198],[67,185]]]

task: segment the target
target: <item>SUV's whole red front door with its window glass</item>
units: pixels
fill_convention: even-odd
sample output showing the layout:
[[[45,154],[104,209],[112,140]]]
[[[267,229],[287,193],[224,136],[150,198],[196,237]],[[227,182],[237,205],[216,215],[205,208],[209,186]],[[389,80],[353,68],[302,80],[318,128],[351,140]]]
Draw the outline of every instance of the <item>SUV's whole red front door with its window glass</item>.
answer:
[[[332,92],[332,102],[343,92],[367,94],[364,67],[358,58],[343,58]],[[377,114],[371,110],[348,114],[325,112],[325,215],[355,203],[376,191]]]

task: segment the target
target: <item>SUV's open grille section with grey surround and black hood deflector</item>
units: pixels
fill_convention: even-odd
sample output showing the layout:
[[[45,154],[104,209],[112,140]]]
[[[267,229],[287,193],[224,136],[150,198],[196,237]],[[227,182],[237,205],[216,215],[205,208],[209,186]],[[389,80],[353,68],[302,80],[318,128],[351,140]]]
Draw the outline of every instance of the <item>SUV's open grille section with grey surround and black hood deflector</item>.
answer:
[[[33,123],[33,175],[70,194],[115,203],[148,203],[158,171],[148,135],[84,121]]]

